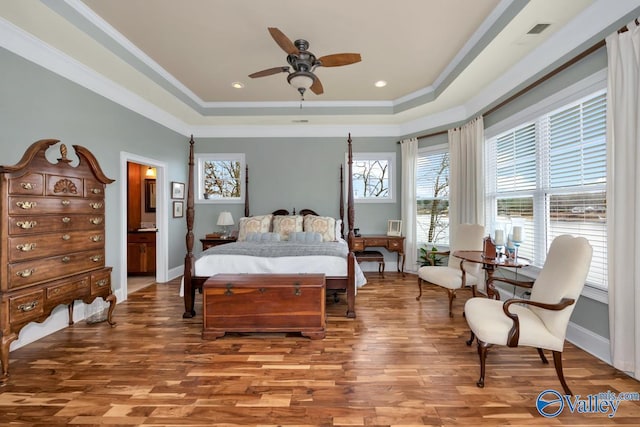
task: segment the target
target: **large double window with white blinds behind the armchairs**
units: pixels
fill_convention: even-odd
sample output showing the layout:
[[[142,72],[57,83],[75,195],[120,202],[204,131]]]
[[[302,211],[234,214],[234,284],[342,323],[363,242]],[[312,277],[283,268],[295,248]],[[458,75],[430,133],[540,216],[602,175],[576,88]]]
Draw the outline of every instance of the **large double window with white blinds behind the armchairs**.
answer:
[[[587,282],[606,289],[606,93],[497,135],[486,148],[492,228],[522,225],[519,255],[538,267],[556,236],[584,236],[593,247]]]

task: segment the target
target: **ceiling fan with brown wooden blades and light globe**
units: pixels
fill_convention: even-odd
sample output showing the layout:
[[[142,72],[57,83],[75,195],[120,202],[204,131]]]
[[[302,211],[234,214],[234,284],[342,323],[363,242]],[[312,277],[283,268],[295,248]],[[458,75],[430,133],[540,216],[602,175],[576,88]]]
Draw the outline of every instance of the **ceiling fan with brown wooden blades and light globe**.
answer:
[[[268,68],[249,74],[249,77],[256,78],[277,73],[289,73],[287,82],[295,87],[301,96],[304,96],[307,89],[310,89],[316,95],[321,95],[324,92],[320,79],[313,73],[317,67],[339,67],[360,62],[362,59],[359,53],[335,53],[316,58],[313,53],[307,50],[309,42],[306,40],[299,39],[291,42],[282,31],[274,27],[269,28],[269,33],[278,46],[287,53],[289,66]]]

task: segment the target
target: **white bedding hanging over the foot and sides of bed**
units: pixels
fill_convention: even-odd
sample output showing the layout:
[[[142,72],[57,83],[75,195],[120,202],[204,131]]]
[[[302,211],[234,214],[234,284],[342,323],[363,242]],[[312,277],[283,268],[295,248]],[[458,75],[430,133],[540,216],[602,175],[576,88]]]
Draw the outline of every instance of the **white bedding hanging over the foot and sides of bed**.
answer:
[[[367,284],[367,279],[354,262],[356,288]],[[235,273],[317,273],[327,277],[347,275],[347,260],[333,256],[286,256],[254,257],[247,255],[202,256],[195,261],[195,276]],[[180,296],[184,296],[184,282],[180,286]]]

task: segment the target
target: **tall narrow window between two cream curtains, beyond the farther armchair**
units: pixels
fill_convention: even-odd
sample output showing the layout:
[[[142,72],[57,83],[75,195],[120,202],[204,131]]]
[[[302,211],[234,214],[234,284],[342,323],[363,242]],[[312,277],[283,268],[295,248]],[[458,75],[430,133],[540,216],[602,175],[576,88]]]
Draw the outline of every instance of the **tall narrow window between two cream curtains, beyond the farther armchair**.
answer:
[[[416,171],[418,243],[449,243],[449,147],[418,150]]]

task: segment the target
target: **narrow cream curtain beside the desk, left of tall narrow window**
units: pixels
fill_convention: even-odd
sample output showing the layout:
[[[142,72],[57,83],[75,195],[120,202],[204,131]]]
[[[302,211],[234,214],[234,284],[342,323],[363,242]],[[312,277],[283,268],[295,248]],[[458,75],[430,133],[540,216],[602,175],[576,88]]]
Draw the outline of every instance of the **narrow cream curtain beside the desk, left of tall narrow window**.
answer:
[[[402,150],[402,227],[404,228],[405,269],[418,270],[418,242],[416,241],[417,203],[416,171],[418,169],[418,139],[400,141]]]

